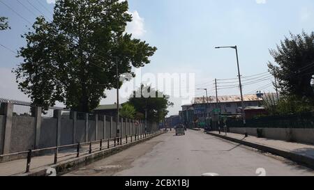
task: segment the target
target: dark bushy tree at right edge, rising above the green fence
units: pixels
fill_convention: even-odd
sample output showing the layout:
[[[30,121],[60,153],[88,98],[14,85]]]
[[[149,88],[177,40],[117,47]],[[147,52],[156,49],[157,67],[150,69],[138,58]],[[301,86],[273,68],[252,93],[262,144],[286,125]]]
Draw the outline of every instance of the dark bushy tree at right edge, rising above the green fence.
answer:
[[[283,95],[295,95],[306,98],[314,105],[314,92],[311,88],[311,76],[314,73],[314,32],[299,35],[290,33],[271,49],[275,63],[269,62],[269,71],[278,79],[278,87]]]

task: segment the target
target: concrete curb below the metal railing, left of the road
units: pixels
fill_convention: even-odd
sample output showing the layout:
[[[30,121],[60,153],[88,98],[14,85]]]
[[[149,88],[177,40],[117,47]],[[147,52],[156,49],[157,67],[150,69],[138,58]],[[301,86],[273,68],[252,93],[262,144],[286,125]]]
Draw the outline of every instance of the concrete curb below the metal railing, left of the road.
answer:
[[[147,138],[143,138],[139,141],[135,141],[132,143],[124,144],[124,145],[119,145],[114,148],[102,150],[99,152],[94,152],[91,155],[84,155],[82,157],[78,158],[73,158],[69,159],[66,161],[61,161],[58,164],[50,165],[50,166],[43,166],[37,169],[33,169],[31,173],[22,173],[22,174],[17,174],[13,176],[46,176],[46,171],[47,168],[54,168],[57,171],[57,175],[63,175],[65,173],[68,173],[70,171],[73,171],[76,168],[80,168],[83,166],[87,166],[95,161],[98,161],[100,159],[104,159],[105,157],[110,157],[111,155],[115,155],[123,150],[126,150],[134,145],[137,145],[139,143],[143,143],[145,141],[151,140],[151,138],[155,138],[156,136],[159,136],[161,134],[165,134],[166,132],[161,132],[160,134],[156,134],[154,136],[149,136]]]

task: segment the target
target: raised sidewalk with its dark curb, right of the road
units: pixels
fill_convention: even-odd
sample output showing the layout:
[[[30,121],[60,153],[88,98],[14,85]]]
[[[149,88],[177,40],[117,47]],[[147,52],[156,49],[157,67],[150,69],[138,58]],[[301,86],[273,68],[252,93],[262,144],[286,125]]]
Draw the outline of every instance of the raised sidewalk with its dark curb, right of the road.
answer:
[[[244,134],[227,133],[227,136],[225,136],[225,132],[221,132],[221,134],[219,134],[219,132],[207,132],[207,134],[241,143],[314,168],[314,145],[292,143],[269,138],[257,138],[256,136],[248,136],[245,138]]]

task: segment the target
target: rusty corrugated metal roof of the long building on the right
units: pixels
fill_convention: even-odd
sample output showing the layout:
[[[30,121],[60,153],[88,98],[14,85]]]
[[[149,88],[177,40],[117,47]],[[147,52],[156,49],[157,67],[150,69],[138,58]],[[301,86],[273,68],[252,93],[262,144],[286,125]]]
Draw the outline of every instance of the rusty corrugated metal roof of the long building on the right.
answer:
[[[244,95],[243,96],[244,102],[249,101],[261,101],[261,97],[257,97],[257,95]],[[216,97],[209,97],[209,102],[216,102]],[[240,95],[223,95],[218,96],[218,102],[241,102],[241,96]],[[207,103],[206,97],[195,97],[194,99],[195,104],[204,104]]]

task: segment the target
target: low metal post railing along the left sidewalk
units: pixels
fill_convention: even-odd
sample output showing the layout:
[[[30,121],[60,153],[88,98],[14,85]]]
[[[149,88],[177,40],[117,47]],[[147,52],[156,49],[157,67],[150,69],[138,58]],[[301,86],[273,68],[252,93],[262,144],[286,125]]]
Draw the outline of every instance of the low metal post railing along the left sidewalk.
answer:
[[[54,150],[54,160],[53,164],[57,164],[59,159],[61,158],[66,158],[66,157],[71,157],[75,155],[76,158],[82,156],[82,155],[91,155],[95,152],[100,152],[103,150],[109,150],[110,148],[117,148],[121,145],[126,145],[128,143],[133,143],[136,141],[140,141],[145,138],[151,138],[152,136],[157,136],[158,134],[162,134],[163,132],[161,131],[156,131],[156,132],[149,132],[149,133],[144,133],[144,134],[135,134],[134,136],[128,136],[126,135],[124,138],[122,137],[115,137],[115,138],[107,138],[107,139],[101,139],[97,141],[89,141],[86,143],[75,143],[75,144],[70,144],[70,145],[60,145],[60,146],[55,146],[51,148],[41,148],[41,149],[36,149],[36,150],[28,150],[28,151],[23,151],[23,152],[15,152],[15,153],[10,153],[6,155],[0,155],[0,158],[3,157],[11,157],[15,155],[25,155],[27,154],[27,163],[26,163],[26,171],[25,173],[29,173],[31,170],[31,159],[33,157],[40,157],[40,156],[33,156],[35,155],[36,152],[41,152],[41,151],[47,151],[47,150]],[[119,139],[119,141],[118,141]],[[93,145],[97,144],[97,147],[93,148]],[[84,150],[84,145],[87,145],[87,149]],[[66,155],[61,155],[59,156],[59,149],[61,148],[75,148],[76,151],[66,154]],[[68,159],[73,159],[68,158]],[[67,159],[66,159],[67,160]],[[65,160],[63,160],[65,161]],[[48,166],[50,164],[45,164],[45,166]]]

